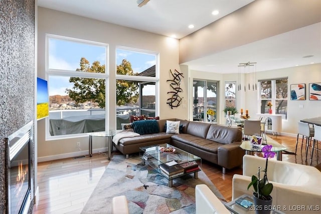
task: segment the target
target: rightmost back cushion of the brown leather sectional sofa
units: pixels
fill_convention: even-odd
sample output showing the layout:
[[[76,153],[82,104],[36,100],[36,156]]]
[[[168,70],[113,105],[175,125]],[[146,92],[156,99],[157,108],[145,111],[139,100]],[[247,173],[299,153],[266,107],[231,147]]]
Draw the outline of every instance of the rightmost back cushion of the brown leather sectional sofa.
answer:
[[[222,144],[233,143],[242,141],[242,131],[238,128],[212,124],[207,132],[206,139]]]

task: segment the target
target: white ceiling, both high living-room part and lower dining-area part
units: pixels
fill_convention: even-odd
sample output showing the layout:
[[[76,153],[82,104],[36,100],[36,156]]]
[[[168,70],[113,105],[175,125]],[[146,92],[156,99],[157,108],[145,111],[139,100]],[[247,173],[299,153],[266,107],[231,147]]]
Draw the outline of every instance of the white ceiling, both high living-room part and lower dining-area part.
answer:
[[[181,39],[253,0],[38,0],[38,6]],[[212,12],[218,10],[214,16]],[[189,29],[193,24],[195,28]],[[304,56],[313,55],[310,58]],[[189,69],[236,73],[257,62],[257,71],[321,63],[321,23],[184,63]]]

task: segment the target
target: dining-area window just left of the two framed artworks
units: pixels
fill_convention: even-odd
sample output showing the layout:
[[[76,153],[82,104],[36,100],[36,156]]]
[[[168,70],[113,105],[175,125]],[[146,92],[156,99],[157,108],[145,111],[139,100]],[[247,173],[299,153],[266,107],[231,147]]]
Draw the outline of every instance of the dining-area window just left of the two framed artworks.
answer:
[[[260,81],[260,112],[268,113],[268,102],[272,103],[272,112],[287,119],[287,78]]]

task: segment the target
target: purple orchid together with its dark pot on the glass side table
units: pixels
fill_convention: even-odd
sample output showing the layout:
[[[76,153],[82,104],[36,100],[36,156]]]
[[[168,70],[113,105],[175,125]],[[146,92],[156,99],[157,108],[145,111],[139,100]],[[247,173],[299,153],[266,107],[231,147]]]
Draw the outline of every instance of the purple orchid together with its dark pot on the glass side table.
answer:
[[[273,184],[269,183],[267,179],[267,162],[269,157],[274,157],[275,153],[271,151],[272,145],[266,145],[262,148],[264,152],[264,158],[266,158],[265,169],[261,170],[259,167],[256,175],[252,175],[252,181],[248,185],[247,190],[253,186],[253,201],[254,205],[260,207],[260,210],[256,210],[256,213],[270,213],[269,208],[272,205],[271,192],[273,190]],[[263,171],[264,175],[260,178],[260,172]]]

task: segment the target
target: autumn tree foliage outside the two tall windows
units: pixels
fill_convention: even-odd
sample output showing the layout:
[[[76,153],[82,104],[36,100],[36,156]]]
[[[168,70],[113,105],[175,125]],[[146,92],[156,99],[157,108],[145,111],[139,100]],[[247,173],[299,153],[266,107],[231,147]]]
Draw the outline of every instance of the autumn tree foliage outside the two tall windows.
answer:
[[[80,68],[76,69],[76,71],[105,73],[105,65],[100,65],[99,61],[95,61],[90,66],[89,61],[82,57],[80,59]],[[123,60],[122,64],[117,66],[117,74],[133,75],[130,63]],[[98,103],[100,108],[105,108],[105,79],[71,77],[69,82],[73,83],[74,86],[72,89],[66,89],[66,93],[76,102],[76,105],[92,101]],[[129,81],[117,82],[120,82],[116,88],[117,104],[135,103],[138,99],[137,84]]]

